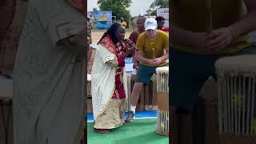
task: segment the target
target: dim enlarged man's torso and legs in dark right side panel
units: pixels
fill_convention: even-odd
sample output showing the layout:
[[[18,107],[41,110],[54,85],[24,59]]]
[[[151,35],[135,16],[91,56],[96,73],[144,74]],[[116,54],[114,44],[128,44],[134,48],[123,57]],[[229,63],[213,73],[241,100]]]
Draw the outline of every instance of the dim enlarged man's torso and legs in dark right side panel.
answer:
[[[217,79],[216,60],[255,54],[256,50],[247,35],[256,29],[255,0],[211,0],[211,10],[206,2],[170,2],[170,106],[178,115],[192,118],[193,144],[204,143],[205,112],[200,106],[199,91],[207,78]],[[182,133],[180,130],[179,134]]]

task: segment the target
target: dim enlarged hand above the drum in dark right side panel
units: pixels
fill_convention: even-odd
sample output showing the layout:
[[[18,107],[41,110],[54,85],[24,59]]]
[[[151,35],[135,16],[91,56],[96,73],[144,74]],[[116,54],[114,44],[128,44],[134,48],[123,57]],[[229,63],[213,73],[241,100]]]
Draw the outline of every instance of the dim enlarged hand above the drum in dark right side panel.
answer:
[[[220,28],[206,34],[206,49],[218,51],[230,45],[234,37],[230,28]]]

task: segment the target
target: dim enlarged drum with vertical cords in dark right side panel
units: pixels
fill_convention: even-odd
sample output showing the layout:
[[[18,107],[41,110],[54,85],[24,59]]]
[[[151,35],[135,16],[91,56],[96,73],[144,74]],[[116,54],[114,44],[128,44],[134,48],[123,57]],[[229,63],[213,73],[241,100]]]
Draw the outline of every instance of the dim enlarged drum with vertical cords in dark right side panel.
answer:
[[[255,62],[254,55],[242,55],[215,63],[220,144],[256,142]]]

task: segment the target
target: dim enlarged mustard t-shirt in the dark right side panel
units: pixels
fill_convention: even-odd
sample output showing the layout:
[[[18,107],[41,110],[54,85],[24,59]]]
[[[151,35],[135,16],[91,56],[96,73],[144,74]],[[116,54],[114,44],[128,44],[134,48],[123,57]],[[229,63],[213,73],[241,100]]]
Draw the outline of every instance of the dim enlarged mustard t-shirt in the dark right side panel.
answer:
[[[213,0],[211,2],[213,29],[230,26],[245,15],[246,10],[242,5],[242,0]],[[174,0],[170,2],[170,5],[171,25],[193,32],[207,31],[206,0]],[[230,46],[218,51],[218,54],[236,52],[249,45],[249,37],[245,34],[235,39]],[[206,54],[206,51],[198,47],[186,46],[182,43],[171,42],[170,46],[194,54]]]

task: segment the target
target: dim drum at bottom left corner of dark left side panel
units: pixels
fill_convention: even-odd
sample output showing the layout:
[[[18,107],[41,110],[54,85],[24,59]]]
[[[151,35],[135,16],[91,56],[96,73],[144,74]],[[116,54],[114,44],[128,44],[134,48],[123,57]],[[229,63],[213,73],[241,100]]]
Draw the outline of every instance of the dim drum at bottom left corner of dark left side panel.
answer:
[[[0,75],[0,143],[2,144],[14,143],[12,97],[12,80]]]

